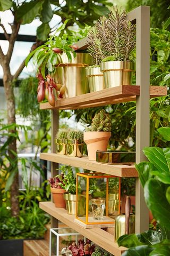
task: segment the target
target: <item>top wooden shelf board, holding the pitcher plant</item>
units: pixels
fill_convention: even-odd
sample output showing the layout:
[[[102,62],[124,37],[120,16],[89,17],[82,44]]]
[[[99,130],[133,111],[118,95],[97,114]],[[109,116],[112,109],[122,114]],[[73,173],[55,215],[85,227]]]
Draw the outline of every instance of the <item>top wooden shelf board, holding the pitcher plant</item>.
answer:
[[[140,86],[138,85],[121,85],[98,92],[82,94],[76,97],[57,100],[55,107],[48,102],[40,103],[40,109],[75,109],[88,108],[95,106],[104,106],[136,100],[140,95]],[[167,95],[167,88],[163,86],[150,86],[150,97],[159,97]]]

